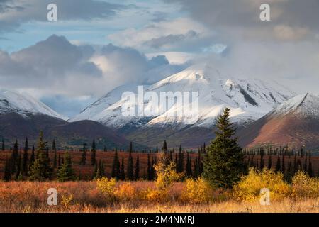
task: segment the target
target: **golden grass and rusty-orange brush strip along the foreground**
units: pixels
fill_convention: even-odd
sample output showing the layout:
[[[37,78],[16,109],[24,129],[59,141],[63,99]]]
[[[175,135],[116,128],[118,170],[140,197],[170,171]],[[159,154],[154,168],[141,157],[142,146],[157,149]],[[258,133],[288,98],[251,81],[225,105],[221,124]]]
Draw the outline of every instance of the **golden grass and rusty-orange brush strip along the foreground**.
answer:
[[[154,182],[117,182],[118,197],[113,201],[96,188],[96,182],[0,182],[0,212],[319,212],[317,199],[282,199],[262,206],[259,200],[235,201],[220,192],[214,192],[209,202],[192,203],[181,199],[185,185],[174,183],[169,201],[153,202],[143,195],[147,189],[155,189]],[[57,206],[47,205],[49,188],[57,189]]]

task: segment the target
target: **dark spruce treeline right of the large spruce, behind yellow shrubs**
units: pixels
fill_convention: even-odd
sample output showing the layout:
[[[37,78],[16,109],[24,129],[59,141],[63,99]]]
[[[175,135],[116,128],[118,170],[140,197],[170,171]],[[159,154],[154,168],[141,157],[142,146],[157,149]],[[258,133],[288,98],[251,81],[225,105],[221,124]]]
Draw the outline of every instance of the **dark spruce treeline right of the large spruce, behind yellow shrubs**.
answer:
[[[246,148],[245,163],[257,170],[264,168],[273,169],[276,172],[282,172],[287,182],[291,182],[292,177],[302,171],[310,177],[319,177],[319,169],[315,172],[313,159],[310,150],[303,148],[295,149],[285,147],[272,148]]]

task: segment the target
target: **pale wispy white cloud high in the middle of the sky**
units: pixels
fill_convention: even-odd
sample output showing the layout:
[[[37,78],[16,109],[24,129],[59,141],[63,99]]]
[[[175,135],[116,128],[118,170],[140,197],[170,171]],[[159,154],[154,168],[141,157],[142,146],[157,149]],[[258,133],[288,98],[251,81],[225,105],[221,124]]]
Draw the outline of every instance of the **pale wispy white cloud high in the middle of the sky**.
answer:
[[[143,52],[198,51],[213,43],[213,32],[189,18],[159,21],[135,29],[128,28],[108,35],[116,45],[129,46]]]

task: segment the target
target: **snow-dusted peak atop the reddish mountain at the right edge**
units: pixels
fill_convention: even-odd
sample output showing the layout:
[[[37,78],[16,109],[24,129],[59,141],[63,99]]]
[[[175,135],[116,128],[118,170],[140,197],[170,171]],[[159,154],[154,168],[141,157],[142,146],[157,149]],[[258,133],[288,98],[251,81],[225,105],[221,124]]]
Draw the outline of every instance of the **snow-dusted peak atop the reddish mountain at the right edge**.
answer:
[[[319,118],[319,96],[314,94],[301,94],[285,101],[270,114],[286,116],[293,114],[298,117]]]

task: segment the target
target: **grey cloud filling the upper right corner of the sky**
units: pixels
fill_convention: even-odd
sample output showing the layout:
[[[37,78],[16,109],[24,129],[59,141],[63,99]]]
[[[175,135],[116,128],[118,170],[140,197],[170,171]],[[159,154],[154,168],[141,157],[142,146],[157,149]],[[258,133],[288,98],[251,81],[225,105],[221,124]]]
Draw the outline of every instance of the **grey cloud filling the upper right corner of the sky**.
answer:
[[[224,40],[235,36],[253,40],[291,41],[318,33],[319,1],[269,0],[272,21],[260,21],[263,0],[172,0],[191,18],[220,32]]]

